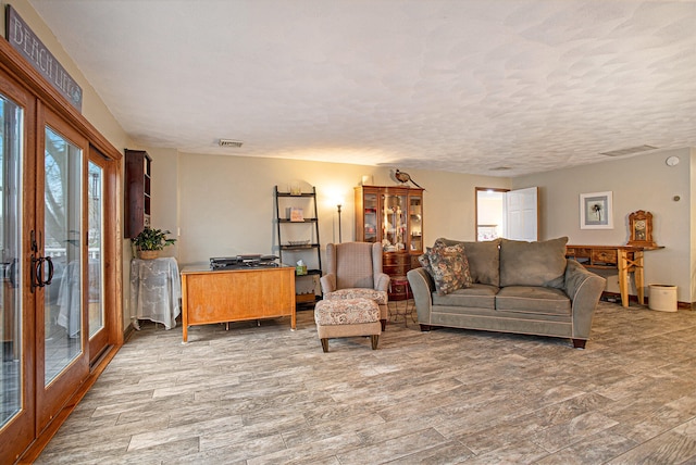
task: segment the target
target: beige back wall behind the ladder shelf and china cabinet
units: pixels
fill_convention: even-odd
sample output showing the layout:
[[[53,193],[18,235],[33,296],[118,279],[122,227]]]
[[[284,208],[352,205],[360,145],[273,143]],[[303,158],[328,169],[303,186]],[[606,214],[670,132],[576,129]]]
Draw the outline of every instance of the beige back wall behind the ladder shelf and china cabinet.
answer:
[[[174,183],[163,179],[158,171],[160,160],[153,161],[153,185]],[[166,163],[173,161],[167,159]],[[475,187],[509,187],[505,178],[417,169],[408,173],[425,188],[426,244],[439,236],[473,240]],[[349,241],[355,239],[353,187],[363,175],[372,175],[375,185],[398,185],[387,167],[182,153],[176,181],[181,203],[162,205],[166,213],[156,209],[153,223],[158,224],[160,215],[171,218],[178,212],[182,265],[208,262],[211,256],[277,254],[273,187],[288,190],[289,185],[300,183],[306,190],[316,187],[322,246],[338,241],[337,196],[344,199],[343,240]]]

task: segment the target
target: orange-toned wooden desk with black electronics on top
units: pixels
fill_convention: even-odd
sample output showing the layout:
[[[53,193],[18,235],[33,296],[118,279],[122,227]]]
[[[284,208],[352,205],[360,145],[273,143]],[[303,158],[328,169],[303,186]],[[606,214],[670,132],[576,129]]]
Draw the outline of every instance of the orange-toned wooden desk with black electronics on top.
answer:
[[[212,323],[290,317],[296,328],[295,267],[182,269],[184,342],[188,327]]]

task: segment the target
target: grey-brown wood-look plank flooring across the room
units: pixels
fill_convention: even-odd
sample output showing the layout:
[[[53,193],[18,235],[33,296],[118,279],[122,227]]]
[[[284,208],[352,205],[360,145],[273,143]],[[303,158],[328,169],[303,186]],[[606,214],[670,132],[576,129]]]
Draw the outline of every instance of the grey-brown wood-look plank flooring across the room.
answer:
[[[37,463],[696,464],[696,312],[601,302],[585,350],[408,323],[144,323]]]

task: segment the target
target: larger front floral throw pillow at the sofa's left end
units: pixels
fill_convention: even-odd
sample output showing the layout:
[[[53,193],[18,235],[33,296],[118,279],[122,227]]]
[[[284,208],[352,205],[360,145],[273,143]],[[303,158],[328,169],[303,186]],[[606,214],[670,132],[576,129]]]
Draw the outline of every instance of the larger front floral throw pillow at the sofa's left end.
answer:
[[[444,296],[457,289],[471,287],[469,260],[462,244],[445,246],[436,242],[427,251],[427,259],[438,294]]]

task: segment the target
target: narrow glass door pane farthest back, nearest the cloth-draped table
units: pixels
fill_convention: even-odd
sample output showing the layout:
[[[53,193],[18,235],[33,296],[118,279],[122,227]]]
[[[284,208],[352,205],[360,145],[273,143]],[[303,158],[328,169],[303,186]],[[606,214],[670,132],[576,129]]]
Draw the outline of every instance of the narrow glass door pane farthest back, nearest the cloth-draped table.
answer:
[[[89,162],[89,176],[87,186],[88,227],[89,234],[87,251],[88,281],[89,281],[89,337],[95,336],[104,327],[104,300],[103,300],[103,243],[102,243],[102,199],[103,199],[103,169]]]

